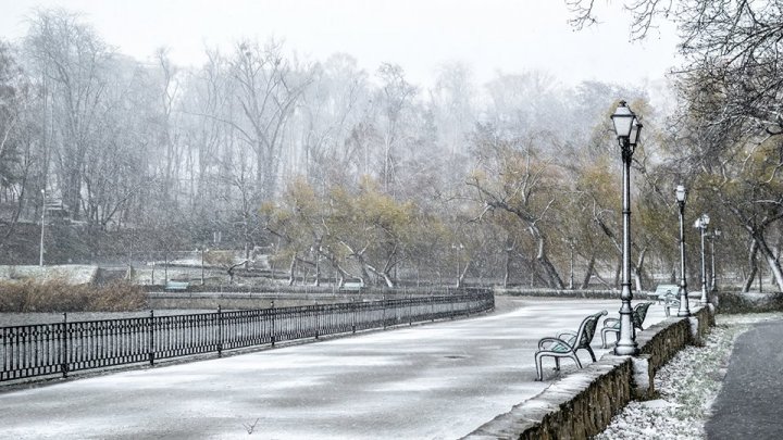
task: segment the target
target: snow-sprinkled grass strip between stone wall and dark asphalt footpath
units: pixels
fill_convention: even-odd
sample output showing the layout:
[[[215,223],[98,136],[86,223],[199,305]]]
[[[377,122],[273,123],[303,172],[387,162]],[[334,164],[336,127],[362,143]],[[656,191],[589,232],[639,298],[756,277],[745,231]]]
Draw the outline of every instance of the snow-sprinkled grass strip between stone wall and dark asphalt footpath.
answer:
[[[718,315],[704,347],[682,350],[658,372],[659,399],[631,402],[596,439],[704,439],[734,340],[750,324],[782,318],[781,313]]]

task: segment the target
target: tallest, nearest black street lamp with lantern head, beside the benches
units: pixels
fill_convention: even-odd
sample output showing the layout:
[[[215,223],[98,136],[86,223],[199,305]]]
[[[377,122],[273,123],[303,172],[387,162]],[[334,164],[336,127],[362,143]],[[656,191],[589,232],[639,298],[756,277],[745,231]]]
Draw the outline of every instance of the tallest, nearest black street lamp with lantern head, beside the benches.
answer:
[[[614,347],[614,354],[637,354],[638,345],[636,344],[636,334],[632,322],[633,311],[631,310],[631,300],[633,299],[631,292],[631,159],[638,142],[642,124],[625,101],[620,101],[620,105],[611,115],[611,120],[623,161],[623,264],[622,290],[620,292],[622,305],[620,306],[620,340]]]

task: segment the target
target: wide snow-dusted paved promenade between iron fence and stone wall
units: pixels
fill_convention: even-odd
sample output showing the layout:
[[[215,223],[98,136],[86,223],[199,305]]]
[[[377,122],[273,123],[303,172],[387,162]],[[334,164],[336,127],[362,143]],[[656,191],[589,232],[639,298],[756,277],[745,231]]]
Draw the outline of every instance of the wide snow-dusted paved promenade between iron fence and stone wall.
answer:
[[[0,437],[459,438],[551,382],[550,359],[548,381],[534,381],[539,338],[620,309],[619,300],[511,301],[519,309],[507,313],[2,392]],[[652,305],[645,328],[662,319]],[[607,352],[598,334],[593,348]]]

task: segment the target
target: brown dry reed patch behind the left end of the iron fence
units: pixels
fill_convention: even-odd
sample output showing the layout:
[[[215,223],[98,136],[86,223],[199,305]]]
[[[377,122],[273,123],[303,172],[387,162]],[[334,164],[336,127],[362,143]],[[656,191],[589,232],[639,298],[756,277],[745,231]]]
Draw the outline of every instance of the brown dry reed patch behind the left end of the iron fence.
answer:
[[[73,286],[60,280],[0,282],[0,312],[127,312],[145,306],[144,290],[125,281]]]

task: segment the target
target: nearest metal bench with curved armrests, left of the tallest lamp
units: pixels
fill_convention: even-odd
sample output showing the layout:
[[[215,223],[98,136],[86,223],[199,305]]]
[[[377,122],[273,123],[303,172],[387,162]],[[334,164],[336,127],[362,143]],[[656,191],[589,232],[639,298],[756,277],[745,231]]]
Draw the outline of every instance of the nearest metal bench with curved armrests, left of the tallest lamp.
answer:
[[[601,316],[606,316],[606,314],[607,311],[604,310],[587,316],[582,320],[576,332],[563,331],[555,338],[542,338],[538,341],[538,351],[535,354],[536,380],[544,380],[542,360],[545,356],[555,357],[555,369],[557,370],[560,369],[560,357],[570,357],[574,360],[576,366],[582,368],[582,362],[580,362],[576,355],[579,350],[587,350],[593,362],[596,362],[595,353],[589,345],[591,342],[593,342],[593,337],[598,327],[598,319]]]

